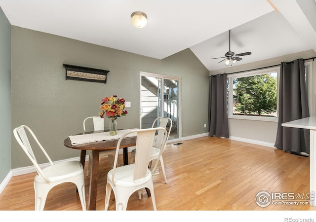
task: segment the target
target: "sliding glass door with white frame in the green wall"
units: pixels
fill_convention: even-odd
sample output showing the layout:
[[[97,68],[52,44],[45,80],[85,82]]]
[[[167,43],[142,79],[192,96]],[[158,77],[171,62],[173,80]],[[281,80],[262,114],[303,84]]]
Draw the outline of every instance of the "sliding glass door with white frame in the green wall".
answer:
[[[181,135],[181,78],[159,74],[140,73],[140,127],[151,128],[158,116],[169,117],[172,128],[169,141]]]

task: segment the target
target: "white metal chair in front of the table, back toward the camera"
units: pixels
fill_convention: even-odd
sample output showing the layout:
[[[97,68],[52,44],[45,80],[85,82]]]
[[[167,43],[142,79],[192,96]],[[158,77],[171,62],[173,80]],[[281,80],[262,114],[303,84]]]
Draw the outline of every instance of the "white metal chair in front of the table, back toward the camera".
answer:
[[[130,195],[135,191],[139,192],[139,190],[145,187],[149,188],[154,210],[157,210],[152,172],[148,169],[151,147],[157,130],[162,131],[165,135],[165,139],[167,138],[167,131],[162,127],[157,127],[131,130],[122,135],[118,140],[114,167],[108,172],[105,210],[108,210],[112,189],[116,200],[116,210],[126,210]],[[116,163],[118,161],[120,143],[125,136],[131,133],[137,134],[135,163],[117,167]]]

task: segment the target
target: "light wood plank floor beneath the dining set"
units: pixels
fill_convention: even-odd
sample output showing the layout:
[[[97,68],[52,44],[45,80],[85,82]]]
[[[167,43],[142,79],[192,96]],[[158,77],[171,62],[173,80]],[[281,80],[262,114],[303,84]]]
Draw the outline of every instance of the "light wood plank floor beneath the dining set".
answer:
[[[202,137],[168,145],[164,154],[168,183],[161,168],[154,174],[158,210],[316,210],[310,205],[272,205],[259,207],[255,196],[260,191],[309,193],[310,158],[275,148],[247,144],[229,139]],[[109,161],[103,158],[98,175],[97,210],[104,210],[106,174]],[[33,180],[36,173],[12,177],[0,194],[0,210],[34,210]],[[86,199],[88,199],[86,178]],[[112,194],[113,195],[113,194]],[[75,185],[54,187],[48,194],[44,210],[81,210]],[[110,201],[109,210],[115,210]],[[151,198],[136,193],[127,210],[153,210]]]

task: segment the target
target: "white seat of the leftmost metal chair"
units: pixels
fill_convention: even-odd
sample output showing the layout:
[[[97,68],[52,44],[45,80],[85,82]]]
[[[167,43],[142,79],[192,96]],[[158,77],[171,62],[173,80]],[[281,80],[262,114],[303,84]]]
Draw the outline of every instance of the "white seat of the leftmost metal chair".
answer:
[[[68,161],[48,166],[43,169],[43,172],[51,182],[55,182],[79,175],[83,172],[83,167],[79,161]],[[39,174],[35,176],[35,180],[40,183],[47,183]]]

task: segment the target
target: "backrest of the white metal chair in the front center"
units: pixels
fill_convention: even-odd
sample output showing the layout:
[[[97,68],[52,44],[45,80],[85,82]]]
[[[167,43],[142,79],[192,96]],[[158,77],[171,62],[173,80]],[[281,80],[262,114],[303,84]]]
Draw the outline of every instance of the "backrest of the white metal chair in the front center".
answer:
[[[116,155],[113,164],[113,174],[112,174],[112,181],[115,184],[115,171],[117,168],[117,161],[118,161],[118,151],[120,147],[121,141],[126,137],[128,134],[136,133],[136,152],[135,152],[135,163],[134,163],[134,175],[133,180],[134,182],[141,180],[147,175],[148,172],[148,162],[151,153],[151,148],[153,145],[154,137],[156,131],[162,131],[165,135],[165,139],[167,138],[167,131],[162,127],[156,128],[149,128],[149,129],[137,129],[131,130],[120,137],[118,140],[118,145],[116,149]]]

